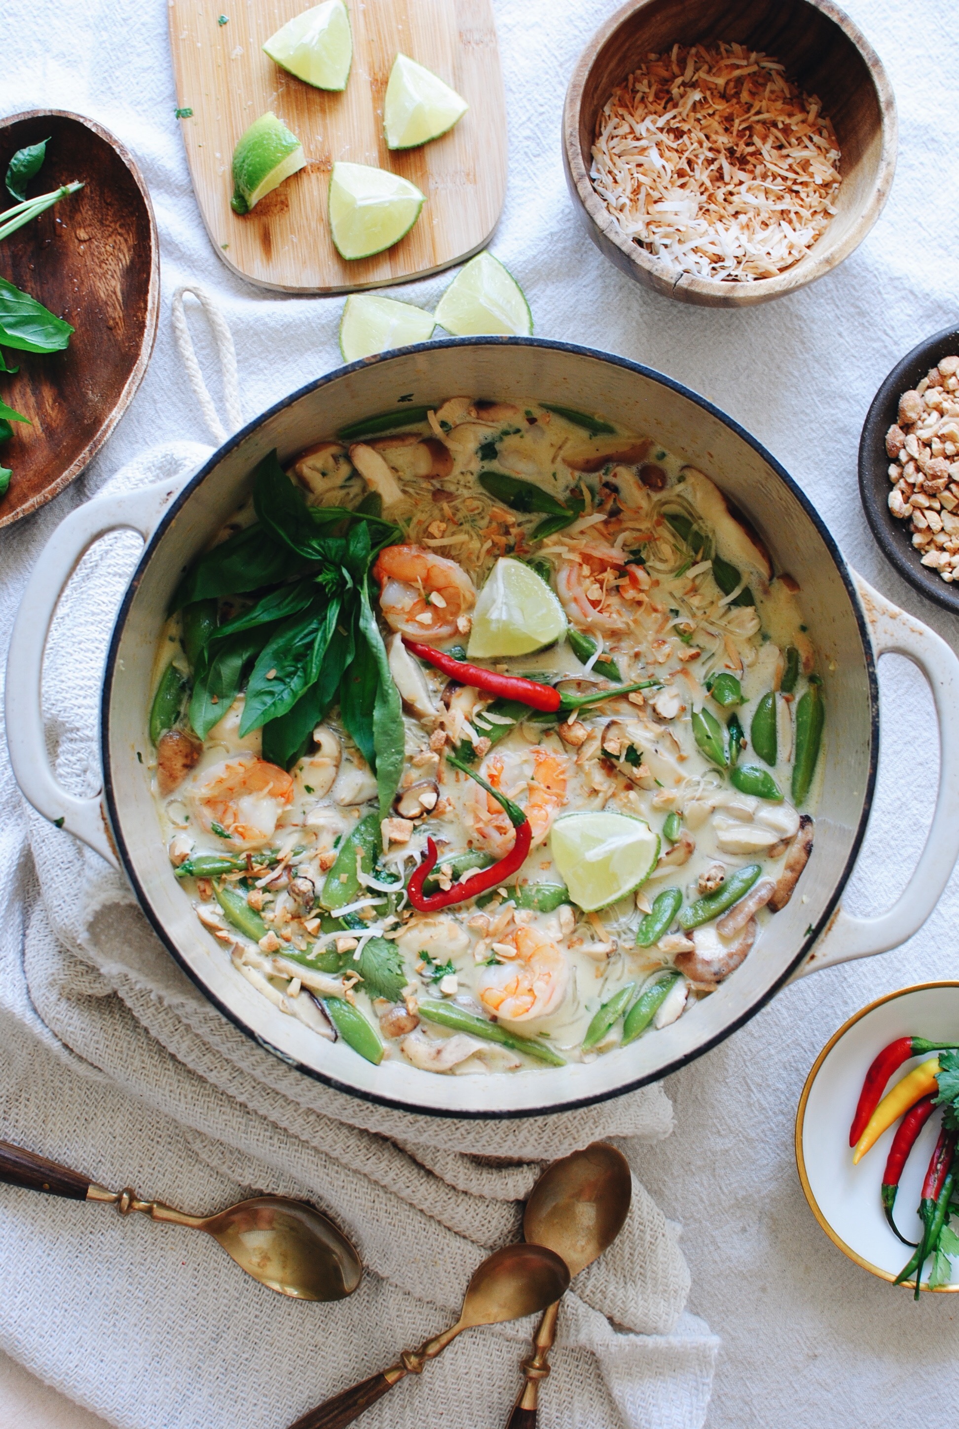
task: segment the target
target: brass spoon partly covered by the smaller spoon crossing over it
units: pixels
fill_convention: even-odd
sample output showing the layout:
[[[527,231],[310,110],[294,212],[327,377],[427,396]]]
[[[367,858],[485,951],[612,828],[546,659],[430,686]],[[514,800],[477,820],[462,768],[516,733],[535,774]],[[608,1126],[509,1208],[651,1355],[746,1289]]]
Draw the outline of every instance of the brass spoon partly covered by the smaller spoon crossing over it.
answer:
[[[633,1199],[633,1179],[622,1152],[595,1142],[553,1162],[533,1186],[523,1215],[527,1242],[549,1246],[579,1275],[623,1229]],[[547,1356],[556,1338],[559,1300],[547,1306],[533,1336],[533,1355],[523,1360],[526,1383],[506,1429],[535,1429],[539,1382],[549,1375]]]

